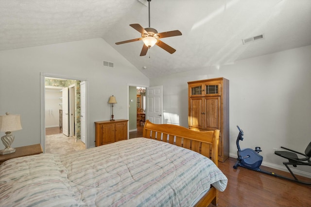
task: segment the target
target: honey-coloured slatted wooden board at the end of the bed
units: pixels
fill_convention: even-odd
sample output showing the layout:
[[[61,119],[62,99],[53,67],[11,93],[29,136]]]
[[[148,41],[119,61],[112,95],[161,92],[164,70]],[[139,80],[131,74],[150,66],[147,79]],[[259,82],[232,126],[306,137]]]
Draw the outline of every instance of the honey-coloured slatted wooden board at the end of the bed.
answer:
[[[193,131],[171,124],[153,124],[146,120],[143,137],[171,143],[198,152],[218,166],[219,130]]]

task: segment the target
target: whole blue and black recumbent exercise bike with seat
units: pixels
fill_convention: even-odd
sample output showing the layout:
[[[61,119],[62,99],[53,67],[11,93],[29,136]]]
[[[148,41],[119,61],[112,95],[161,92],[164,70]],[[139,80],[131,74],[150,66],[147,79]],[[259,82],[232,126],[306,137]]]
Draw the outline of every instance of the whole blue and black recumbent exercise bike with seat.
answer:
[[[288,180],[292,180],[295,182],[299,182],[299,183],[303,183],[303,184],[307,184],[307,185],[311,185],[311,182],[305,182],[305,181],[301,181],[298,180],[298,178],[294,175],[294,173],[292,172],[292,170],[288,167],[288,165],[292,165],[293,167],[297,167],[297,165],[308,165],[311,166],[311,142],[308,144],[306,150],[305,150],[305,154],[288,149],[286,147],[282,147],[283,149],[286,149],[287,151],[275,151],[275,154],[283,157],[285,159],[288,159],[288,162],[283,162],[283,164],[286,166],[286,168],[288,169],[288,171],[291,173],[291,175],[294,177],[293,178],[289,178],[283,175],[277,175],[273,172],[268,172],[268,171],[264,171],[261,170],[259,167],[262,163],[262,156],[259,155],[259,152],[261,152],[262,150],[260,149],[259,146],[255,147],[254,149],[250,149],[250,148],[246,148],[246,149],[242,149],[240,148],[240,140],[243,141],[243,135],[244,132],[243,130],[237,126],[239,129],[239,135],[237,138],[237,147],[238,147],[238,161],[235,163],[235,165],[233,166],[234,169],[238,169],[239,166],[250,169],[250,170],[254,170],[254,171],[258,171],[260,173],[264,173],[267,175],[273,175],[275,177],[281,177],[281,178],[285,178]],[[298,155],[300,155],[300,158],[298,157]],[[301,156],[304,156],[303,158],[301,158]]]

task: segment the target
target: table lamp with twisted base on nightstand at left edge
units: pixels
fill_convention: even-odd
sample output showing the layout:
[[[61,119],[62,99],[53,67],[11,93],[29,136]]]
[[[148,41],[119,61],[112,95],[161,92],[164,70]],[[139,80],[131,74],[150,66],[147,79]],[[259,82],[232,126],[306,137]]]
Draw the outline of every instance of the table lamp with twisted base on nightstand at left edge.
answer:
[[[0,150],[0,155],[11,154],[15,152],[15,148],[11,147],[15,136],[11,131],[17,131],[22,129],[20,125],[20,115],[10,115],[8,112],[6,115],[0,115],[0,131],[5,132],[5,135],[1,137],[1,141],[5,146],[5,149]]]

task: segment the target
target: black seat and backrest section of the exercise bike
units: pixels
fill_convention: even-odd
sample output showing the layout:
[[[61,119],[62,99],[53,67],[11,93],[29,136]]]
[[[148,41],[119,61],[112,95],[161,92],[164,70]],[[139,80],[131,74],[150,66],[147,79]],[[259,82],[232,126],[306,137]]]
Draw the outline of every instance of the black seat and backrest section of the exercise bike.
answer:
[[[294,173],[292,172],[292,170],[288,167],[288,165],[293,165],[293,167],[297,167],[297,165],[307,165],[307,166],[311,166],[311,142],[308,144],[306,150],[305,150],[305,154],[294,151],[292,149],[288,149],[286,147],[281,146],[281,148],[286,149],[288,151],[275,151],[274,153],[282,158],[288,159],[288,162],[283,162],[283,164],[286,166],[286,168],[288,169],[288,171],[293,175],[295,181],[297,182],[301,182],[304,184],[311,184],[311,183],[306,183],[306,182],[302,182],[299,181],[296,176],[294,175]],[[303,158],[299,158],[298,155],[302,155],[304,156]],[[301,157],[301,156],[300,156]]]

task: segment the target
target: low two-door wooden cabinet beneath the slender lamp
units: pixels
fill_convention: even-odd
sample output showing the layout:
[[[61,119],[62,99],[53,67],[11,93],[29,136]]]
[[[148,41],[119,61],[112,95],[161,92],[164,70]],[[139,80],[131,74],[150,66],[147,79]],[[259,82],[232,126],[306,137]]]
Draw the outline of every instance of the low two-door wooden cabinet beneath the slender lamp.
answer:
[[[127,140],[126,119],[95,122],[95,146]]]

